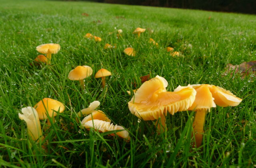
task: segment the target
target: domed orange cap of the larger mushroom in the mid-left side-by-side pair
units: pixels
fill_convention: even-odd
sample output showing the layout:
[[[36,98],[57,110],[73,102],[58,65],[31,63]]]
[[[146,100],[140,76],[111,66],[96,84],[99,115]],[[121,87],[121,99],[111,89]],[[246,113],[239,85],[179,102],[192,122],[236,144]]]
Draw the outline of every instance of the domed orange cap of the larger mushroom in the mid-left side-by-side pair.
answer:
[[[77,66],[68,74],[70,80],[81,80],[92,75],[92,68],[90,66]]]

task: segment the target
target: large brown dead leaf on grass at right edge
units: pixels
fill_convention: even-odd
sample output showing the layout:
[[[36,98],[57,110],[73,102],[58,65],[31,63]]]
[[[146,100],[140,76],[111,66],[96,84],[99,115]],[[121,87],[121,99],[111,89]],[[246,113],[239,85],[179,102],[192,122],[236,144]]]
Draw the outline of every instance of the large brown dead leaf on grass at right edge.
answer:
[[[223,75],[226,76],[227,74],[230,74],[230,76],[233,76],[233,74],[238,74],[242,79],[250,74],[251,77],[254,77],[256,74],[256,61],[243,62],[240,65],[228,64],[226,65],[226,71]]]

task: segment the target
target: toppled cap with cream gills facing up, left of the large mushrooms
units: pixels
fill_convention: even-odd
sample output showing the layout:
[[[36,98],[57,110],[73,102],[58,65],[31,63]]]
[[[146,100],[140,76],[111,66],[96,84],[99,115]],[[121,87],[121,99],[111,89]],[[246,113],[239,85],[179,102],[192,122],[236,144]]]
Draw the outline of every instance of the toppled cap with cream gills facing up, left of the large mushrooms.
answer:
[[[98,131],[101,131],[101,132],[114,131],[114,130],[124,130],[124,131],[116,132],[116,134],[118,136],[120,136],[121,138],[125,138],[125,139],[128,138],[128,140],[130,140],[129,133],[128,133],[128,131],[126,131],[124,129],[124,127],[114,125],[113,123],[110,124],[110,122],[106,122],[106,121],[102,121],[102,120],[90,120],[90,121],[84,123],[83,126],[86,129],[94,128],[94,129],[96,129]],[[110,134],[110,135],[113,136],[113,134]]]

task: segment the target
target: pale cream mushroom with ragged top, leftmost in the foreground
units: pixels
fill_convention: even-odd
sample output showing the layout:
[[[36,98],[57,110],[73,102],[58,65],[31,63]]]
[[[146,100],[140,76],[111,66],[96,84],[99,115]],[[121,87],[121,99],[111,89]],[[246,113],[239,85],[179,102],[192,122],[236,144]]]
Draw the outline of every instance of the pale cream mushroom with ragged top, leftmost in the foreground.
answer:
[[[19,113],[20,120],[24,120],[27,123],[28,134],[31,136],[32,140],[38,142],[39,138],[42,136],[41,124],[38,118],[38,113],[33,107],[25,107],[21,109]]]

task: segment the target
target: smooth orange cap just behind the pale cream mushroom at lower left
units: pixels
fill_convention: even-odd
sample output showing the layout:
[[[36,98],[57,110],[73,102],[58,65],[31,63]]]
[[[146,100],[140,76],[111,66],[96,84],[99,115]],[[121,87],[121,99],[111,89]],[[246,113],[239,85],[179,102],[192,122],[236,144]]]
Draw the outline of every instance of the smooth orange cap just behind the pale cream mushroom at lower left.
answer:
[[[44,104],[43,104],[44,102]],[[46,118],[46,109],[48,110],[49,116],[52,117],[56,116],[57,113],[54,111],[58,111],[60,109],[60,113],[63,112],[65,110],[65,106],[64,104],[62,104],[61,102],[57,101],[57,100],[53,100],[51,98],[44,98],[42,100],[40,100],[40,102],[38,102],[34,108],[36,109],[37,113],[38,113],[38,117],[40,120],[43,120]],[[46,109],[44,108],[44,106],[46,107]]]

